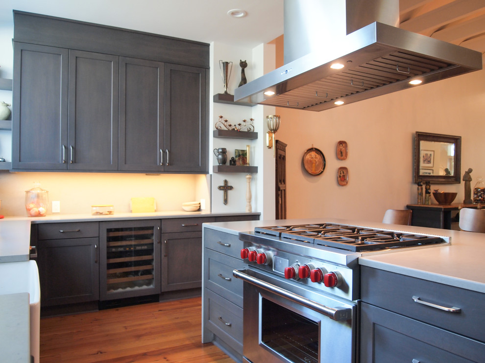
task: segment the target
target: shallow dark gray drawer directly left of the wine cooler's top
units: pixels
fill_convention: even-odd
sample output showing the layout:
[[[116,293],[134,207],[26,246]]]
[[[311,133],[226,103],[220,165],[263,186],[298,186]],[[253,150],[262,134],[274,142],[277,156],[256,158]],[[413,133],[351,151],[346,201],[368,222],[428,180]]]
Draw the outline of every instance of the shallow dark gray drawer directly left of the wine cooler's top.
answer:
[[[98,222],[42,223],[38,228],[39,240],[99,236]]]

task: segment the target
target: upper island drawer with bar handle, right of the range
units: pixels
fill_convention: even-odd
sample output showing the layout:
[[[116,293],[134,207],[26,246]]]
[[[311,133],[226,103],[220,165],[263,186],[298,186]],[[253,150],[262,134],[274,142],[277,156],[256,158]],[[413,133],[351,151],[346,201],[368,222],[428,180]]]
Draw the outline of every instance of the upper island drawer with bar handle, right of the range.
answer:
[[[485,341],[485,295],[398,273],[362,266],[361,298],[372,305]],[[413,296],[449,312],[415,302]]]

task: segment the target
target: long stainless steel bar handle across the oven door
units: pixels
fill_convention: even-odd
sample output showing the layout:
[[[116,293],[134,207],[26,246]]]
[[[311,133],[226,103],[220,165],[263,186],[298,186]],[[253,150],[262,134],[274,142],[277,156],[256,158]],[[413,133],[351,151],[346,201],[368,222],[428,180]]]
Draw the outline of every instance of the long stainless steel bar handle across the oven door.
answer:
[[[269,284],[266,281],[260,280],[259,278],[250,276],[247,273],[245,273],[246,271],[247,270],[234,270],[232,274],[236,278],[240,278],[241,280],[248,282],[252,285],[255,285],[263,290],[269,291],[270,293],[279,295],[293,302],[296,302],[297,304],[303,305],[331,319],[339,321],[339,320],[349,320],[352,318],[352,308],[344,308],[344,307],[331,308],[331,307],[319,304],[306,297],[293,294],[290,291],[282,289],[273,284]]]

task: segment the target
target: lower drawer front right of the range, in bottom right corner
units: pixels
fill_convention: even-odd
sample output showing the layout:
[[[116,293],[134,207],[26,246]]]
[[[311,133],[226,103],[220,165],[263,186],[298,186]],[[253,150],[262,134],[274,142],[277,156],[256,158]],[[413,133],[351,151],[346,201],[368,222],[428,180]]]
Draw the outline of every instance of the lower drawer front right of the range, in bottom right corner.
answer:
[[[361,363],[483,362],[485,344],[361,304]]]

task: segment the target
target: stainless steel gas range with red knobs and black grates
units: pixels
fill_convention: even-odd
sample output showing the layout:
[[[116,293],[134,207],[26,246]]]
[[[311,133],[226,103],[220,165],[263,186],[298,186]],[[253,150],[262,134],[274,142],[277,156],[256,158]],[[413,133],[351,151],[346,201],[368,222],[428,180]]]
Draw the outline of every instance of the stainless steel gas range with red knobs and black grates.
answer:
[[[334,223],[241,232],[244,362],[355,363],[358,258],[449,237]]]

